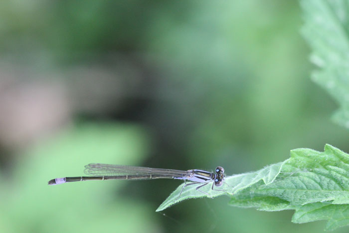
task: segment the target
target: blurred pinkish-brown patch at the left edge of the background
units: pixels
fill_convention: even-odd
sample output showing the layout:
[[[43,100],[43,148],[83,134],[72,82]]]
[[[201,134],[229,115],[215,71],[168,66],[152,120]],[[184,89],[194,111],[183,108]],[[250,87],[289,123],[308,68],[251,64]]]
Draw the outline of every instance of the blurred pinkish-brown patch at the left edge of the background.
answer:
[[[56,132],[70,119],[66,88],[56,80],[0,70],[0,144],[17,150]]]

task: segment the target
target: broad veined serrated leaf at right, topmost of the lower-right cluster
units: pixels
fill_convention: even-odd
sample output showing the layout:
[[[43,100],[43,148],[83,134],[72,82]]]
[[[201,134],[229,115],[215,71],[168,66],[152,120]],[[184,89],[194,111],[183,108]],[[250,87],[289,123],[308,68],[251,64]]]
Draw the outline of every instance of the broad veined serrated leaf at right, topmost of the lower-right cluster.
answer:
[[[324,152],[292,150],[278,178],[272,184],[251,187],[251,191],[292,205],[324,201],[349,204],[349,156],[331,145],[326,145]]]

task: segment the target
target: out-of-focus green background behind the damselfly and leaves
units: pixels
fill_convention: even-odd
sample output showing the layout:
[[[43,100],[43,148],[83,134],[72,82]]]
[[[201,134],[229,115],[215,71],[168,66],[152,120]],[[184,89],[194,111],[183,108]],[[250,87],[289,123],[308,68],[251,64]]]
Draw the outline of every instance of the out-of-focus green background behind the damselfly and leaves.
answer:
[[[0,232],[323,231],[228,197],[156,213],[175,180],[47,185],[88,163],[232,175],[349,152],[301,26],[297,1],[1,1]]]

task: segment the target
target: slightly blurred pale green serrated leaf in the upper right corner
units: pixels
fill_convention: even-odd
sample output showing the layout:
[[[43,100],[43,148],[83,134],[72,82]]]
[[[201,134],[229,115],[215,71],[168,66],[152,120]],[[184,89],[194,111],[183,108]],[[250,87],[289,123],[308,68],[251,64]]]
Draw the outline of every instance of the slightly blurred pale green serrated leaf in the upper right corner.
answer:
[[[312,48],[311,61],[319,69],[312,79],[337,100],[333,119],[349,128],[349,2],[302,0],[302,34]]]

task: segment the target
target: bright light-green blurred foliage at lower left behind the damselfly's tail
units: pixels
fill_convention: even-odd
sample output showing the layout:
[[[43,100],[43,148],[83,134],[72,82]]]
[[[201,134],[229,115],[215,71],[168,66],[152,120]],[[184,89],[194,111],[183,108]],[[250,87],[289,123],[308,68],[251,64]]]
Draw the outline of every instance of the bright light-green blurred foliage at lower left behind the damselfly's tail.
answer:
[[[47,185],[48,177],[82,174],[83,166],[77,165],[96,158],[112,164],[139,163],[148,150],[145,136],[135,126],[82,124],[26,152],[14,178],[1,182],[6,187],[5,193],[1,190],[1,232],[159,231],[154,216],[147,214],[154,212],[149,204],[128,197],[113,202],[112,194],[122,189],[122,182]],[[113,227],[115,221],[127,229]]]

